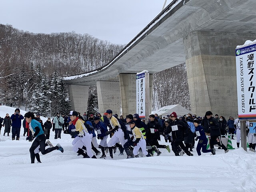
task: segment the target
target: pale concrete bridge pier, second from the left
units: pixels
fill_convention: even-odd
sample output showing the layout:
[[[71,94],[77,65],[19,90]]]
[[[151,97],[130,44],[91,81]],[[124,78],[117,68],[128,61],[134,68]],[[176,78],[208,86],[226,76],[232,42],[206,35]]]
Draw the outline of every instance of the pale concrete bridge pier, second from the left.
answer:
[[[120,114],[120,86],[118,81],[97,81],[98,107],[103,114],[111,109],[113,114]]]

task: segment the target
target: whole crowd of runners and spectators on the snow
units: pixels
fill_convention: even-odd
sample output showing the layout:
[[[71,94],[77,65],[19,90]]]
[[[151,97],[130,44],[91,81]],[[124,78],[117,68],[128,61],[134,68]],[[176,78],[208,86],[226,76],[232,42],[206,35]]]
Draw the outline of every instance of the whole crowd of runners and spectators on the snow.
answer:
[[[23,117],[17,108],[11,117],[6,114],[2,126],[5,126],[4,135],[7,133],[7,136],[12,126],[12,140],[15,140],[15,137],[19,140],[21,122],[24,119],[23,136],[26,135],[30,142],[34,140],[30,148],[31,163],[34,163],[35,158],[40,162],[39,152],[42,154],[53,150],[64,152],[60,144],[54,147],[47,140],[50,138],[51,130],[55,132],[54,139],[61,138],[62,131],[64,134],[70,134],[74,138],[72,141],[74,152],[78,156],[82,155],[83,158],[97,158],[99,154],[102,154],[100,158],[106,158],[108,153],[110,158],[113,158],[117,149],[120,151],[119,155],[124,155],[125,152],[127,158],[150,157],[154,154],[159,156],[162,153],[160,149],[166,149],[169,153],[172,150],[175,156],[183,156],[185,153],[193,156],[191,152],[195,148],[195,141],[198,141],[196,146],[198,156],[201,152],[215,155],[216,144],[219,146],[218,149],[228,152],[227,147],[222,143],[222,138],[227,134],[231,135],[231,139],[234,139],[236,134],[237,148],[240,146],[239,120],[234,120],[230,116],[226,121],[224,116],[219,117],[216,114],[214,117],[211,111],[207,111],[204,118],[192,114],[178,117],[176,112],[163,118],[158,114],[151,114],[147,124],[138,114],[128,114],[125,118],[121,115],[118,118],[118,114],[106,110],[103,115],[103,117],[100,113],[81,115],[76,111],[62,116],[57,113],[52,121],[49,117],[43,124],[40,114],[34,116],[32,112],[27,112]],[[248,144],[250,150],[255,152],[256,132],[255,128],[250,127],[250,123],[246,122]],[[159,144],[161,135],[167,144]],[[110,139],[107,141],[108,137]],[[99,144],[97,139],[100,140]],[[210,149],[207,149],[208,142]]]

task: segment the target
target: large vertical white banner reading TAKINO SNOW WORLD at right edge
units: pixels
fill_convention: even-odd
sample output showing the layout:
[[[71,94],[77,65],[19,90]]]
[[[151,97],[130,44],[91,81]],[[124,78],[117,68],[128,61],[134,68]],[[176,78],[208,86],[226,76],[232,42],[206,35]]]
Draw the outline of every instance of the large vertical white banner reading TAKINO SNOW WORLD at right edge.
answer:
[[[238,118],[256,119],[256,44],[236,48]]]

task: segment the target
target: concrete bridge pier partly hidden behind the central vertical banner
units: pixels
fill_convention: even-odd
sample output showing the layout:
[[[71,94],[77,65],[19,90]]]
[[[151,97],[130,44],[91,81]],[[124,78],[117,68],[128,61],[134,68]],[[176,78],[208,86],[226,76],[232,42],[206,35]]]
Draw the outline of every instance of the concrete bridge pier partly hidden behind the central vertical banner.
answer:
[[[128,114],[135,114],[136,113],[136,74],[127,74],[127,73],[119,74],[119,82],[120,82],[122,114],[124,116]],[[149,95],[150,95],[150,109],[151,109],[153,74],[149,75],[149,84],[150,84]]]

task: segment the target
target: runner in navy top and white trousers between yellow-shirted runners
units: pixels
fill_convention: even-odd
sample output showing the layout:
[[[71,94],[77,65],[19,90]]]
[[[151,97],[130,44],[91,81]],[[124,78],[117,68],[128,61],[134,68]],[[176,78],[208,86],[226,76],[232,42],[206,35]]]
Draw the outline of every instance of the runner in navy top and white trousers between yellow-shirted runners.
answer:
[[[94,129],[97,131],[97,138],[100,139],[99,148],[102,151],[102,156],[100,158],[106,158],[105,150],[108,148],[106,132],[108,128],[106,124],[100,121],[100,117],[94,117]]]

